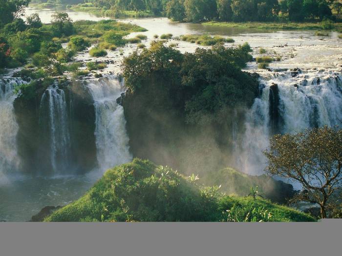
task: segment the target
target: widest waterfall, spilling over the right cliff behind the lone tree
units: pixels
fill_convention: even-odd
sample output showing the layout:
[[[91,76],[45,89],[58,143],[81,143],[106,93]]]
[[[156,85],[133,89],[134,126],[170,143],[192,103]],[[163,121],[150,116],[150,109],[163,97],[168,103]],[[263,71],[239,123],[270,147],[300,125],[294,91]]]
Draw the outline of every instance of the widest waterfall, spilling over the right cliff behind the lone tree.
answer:
[[[236,163],[247,173],[262,174],[262,152],[270,136],[323,125],[342,125],[342,75],[332,70],[296,70],[260,74],[265,85],[246,114]]]

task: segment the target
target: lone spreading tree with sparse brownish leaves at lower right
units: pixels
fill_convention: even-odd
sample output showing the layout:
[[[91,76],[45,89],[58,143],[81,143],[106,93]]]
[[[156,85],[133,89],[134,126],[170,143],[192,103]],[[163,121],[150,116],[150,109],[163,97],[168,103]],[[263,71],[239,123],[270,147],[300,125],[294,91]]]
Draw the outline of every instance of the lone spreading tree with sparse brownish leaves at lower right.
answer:
[[[298,181],[304,201],[314,201],[326,218],[326,207],[342,183],[342,129],[324,126],[270,139],[265,171]]]

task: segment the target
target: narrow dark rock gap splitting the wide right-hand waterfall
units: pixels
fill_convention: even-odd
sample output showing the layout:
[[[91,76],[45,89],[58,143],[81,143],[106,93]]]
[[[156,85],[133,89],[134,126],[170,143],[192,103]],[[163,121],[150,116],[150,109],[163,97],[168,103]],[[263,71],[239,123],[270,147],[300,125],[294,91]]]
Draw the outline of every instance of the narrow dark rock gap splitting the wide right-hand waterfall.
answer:
[[[271,134],[279,134],[281,130],[282,118],[279,112],[279,90],[278,84],[273,83],[270,86],[270,130]]]

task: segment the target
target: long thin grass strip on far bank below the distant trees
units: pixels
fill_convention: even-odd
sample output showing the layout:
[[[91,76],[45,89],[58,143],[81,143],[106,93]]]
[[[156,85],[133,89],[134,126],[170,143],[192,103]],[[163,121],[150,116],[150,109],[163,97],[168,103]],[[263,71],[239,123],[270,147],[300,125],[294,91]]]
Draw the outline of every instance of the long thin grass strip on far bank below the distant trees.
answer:
[[[229,28],[255,28],[255,29],[281,29],[281,30],[317,30],[317,29],[331,29],[341,30],[342,22],[326,24],[324,22],[219,22],[209,21],[203,22],[204,26],[217,26]]]

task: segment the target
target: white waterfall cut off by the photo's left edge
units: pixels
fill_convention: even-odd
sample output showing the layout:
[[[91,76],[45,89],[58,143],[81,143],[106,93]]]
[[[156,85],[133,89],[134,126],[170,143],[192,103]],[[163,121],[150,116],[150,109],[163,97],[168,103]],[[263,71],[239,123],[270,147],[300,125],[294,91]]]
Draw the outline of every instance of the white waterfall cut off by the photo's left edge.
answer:
[[[19,126],[16,121],[13,102],[15,86],[26,83],[21,79],[0,79],[0,183],[2,175],[19,169],[16,137]]]

